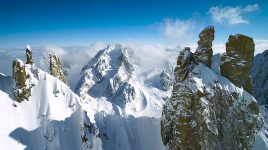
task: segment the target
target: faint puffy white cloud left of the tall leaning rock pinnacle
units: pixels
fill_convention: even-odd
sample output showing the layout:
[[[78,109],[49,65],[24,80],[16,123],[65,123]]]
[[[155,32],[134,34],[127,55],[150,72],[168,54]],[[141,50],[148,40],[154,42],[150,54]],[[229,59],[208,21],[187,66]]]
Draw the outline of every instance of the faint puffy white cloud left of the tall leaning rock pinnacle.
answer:
[[[192,37],[196,22],[193,19],[180,20],[165,18],[160,24],[160,29],[171,42],[183,43]]]

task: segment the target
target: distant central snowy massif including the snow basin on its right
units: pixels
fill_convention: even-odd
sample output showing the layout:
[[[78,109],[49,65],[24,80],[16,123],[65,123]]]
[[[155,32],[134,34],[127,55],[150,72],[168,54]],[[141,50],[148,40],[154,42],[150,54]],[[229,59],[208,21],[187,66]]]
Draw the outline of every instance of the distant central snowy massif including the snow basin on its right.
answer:
[[[164,100],[171,91],[170,87],[163,91],[161,83],[171,86],[173,81],[173,71],[168,67],[165,75],[154,72],[146,76],[132,48],[109,45],[82,69],[75,92],[85,103],[108,114],[160,117]]]

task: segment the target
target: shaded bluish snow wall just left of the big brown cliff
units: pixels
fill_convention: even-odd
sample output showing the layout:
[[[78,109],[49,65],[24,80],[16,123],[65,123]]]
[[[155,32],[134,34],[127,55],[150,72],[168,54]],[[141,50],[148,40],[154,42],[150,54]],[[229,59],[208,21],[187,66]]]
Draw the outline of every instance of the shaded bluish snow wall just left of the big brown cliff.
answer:
[[[164,150],[159,118],[97,113],[95,119],[104,150]]]

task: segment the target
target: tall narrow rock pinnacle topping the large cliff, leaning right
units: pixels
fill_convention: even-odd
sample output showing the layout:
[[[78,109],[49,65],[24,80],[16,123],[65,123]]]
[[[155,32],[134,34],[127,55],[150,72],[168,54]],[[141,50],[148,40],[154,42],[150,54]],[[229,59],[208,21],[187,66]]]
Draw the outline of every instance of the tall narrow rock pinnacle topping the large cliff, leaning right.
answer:
[[[212,41],[214,40],[214,26],[208,26],[199,34],[198,48],[194,55],[196,63],[203,63],[208,68],[211,68]]]

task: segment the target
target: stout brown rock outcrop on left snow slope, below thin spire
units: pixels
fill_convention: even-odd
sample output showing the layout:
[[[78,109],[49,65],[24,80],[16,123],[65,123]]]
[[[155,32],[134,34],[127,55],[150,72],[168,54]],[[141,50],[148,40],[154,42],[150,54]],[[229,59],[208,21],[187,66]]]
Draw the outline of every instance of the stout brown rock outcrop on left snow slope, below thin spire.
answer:
[[[26,83],[29,76],[26,75],[25,65],[21,60],[16,59],[12,63],[12,68],[14,80],[13,92],[17,102],[20,103],[24,100],[29,101],[31,87]]]

